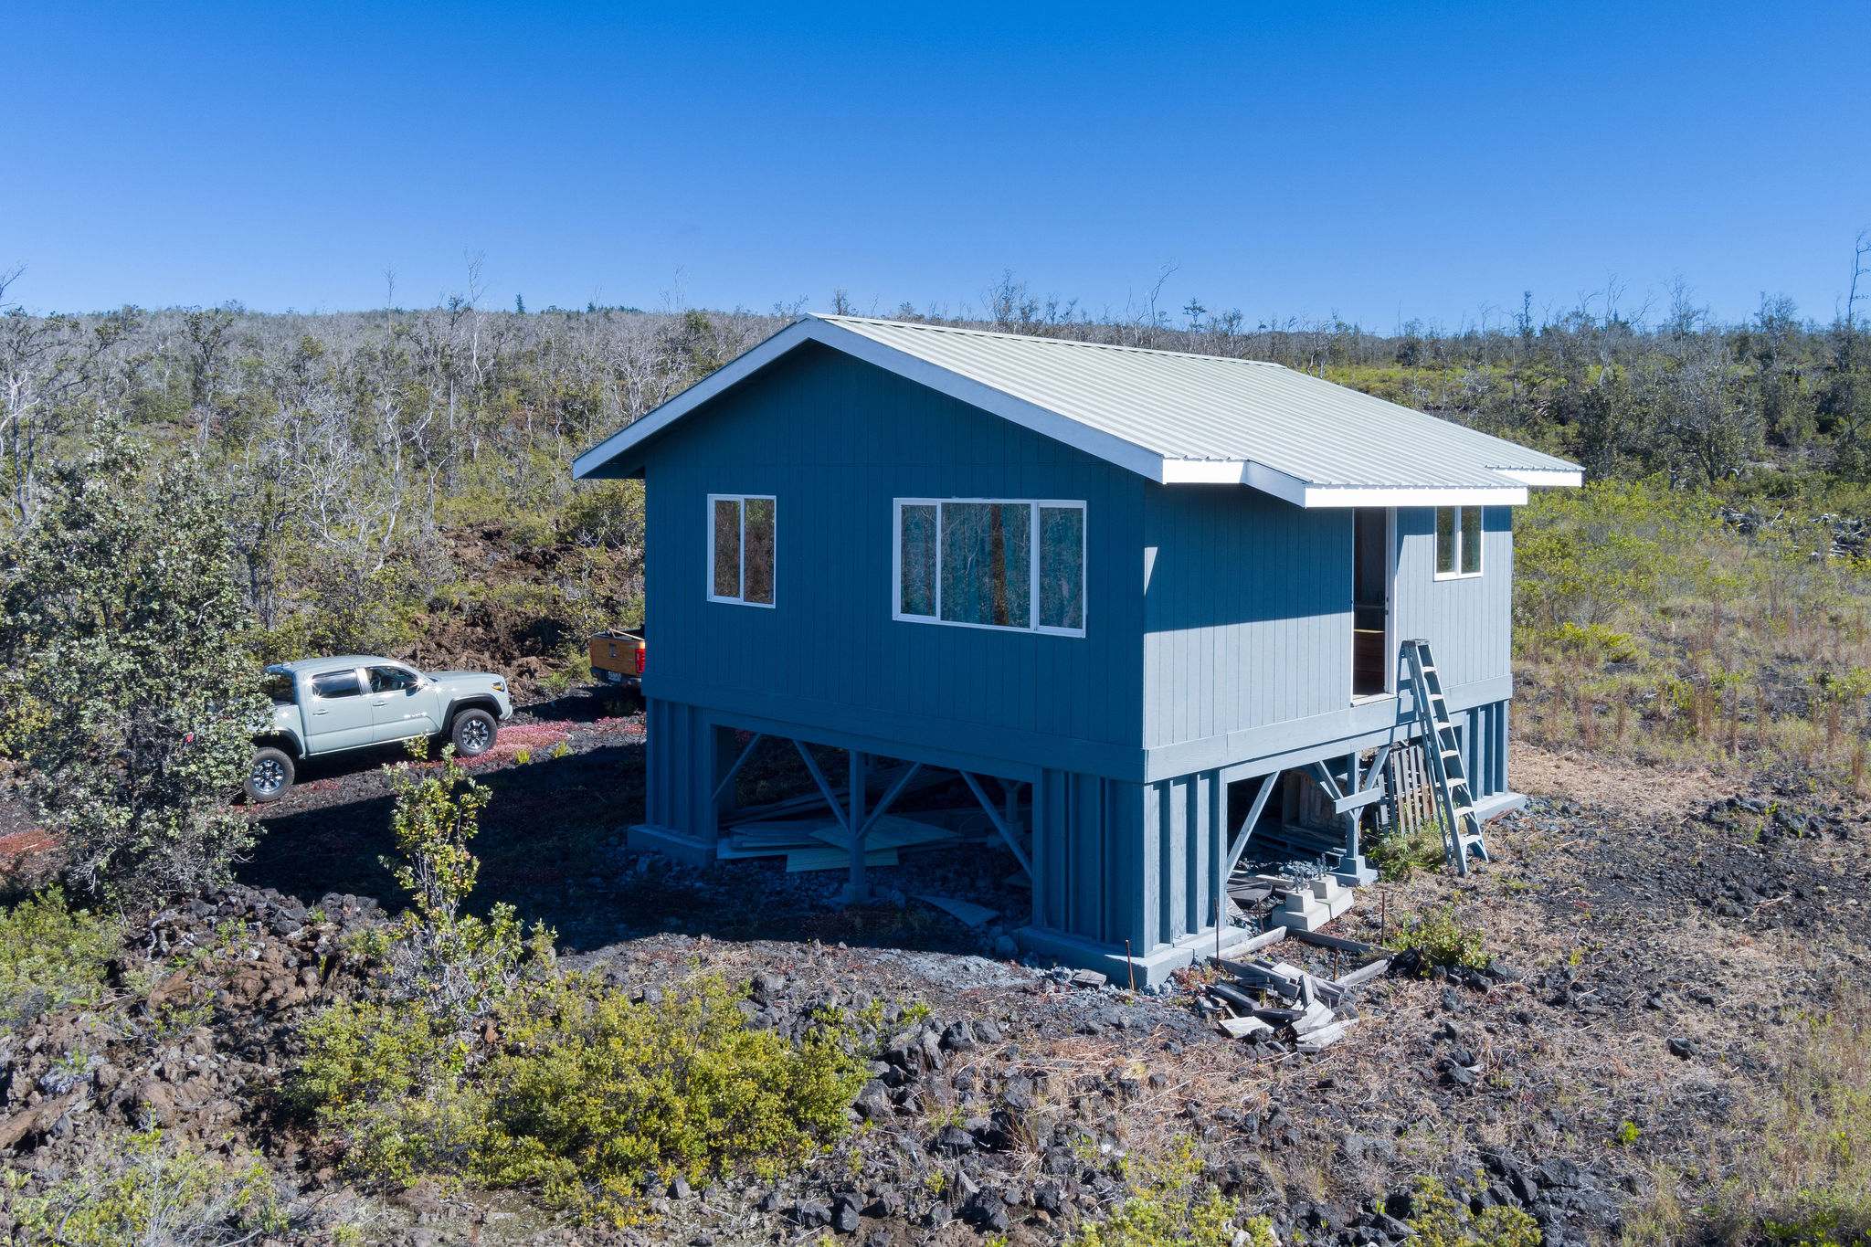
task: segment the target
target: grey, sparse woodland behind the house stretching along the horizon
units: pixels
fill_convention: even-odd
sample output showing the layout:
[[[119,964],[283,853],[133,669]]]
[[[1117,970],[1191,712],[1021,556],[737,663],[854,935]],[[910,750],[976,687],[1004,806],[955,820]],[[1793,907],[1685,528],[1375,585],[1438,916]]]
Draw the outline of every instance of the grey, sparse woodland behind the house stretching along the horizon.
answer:
[[[1154,292],[1093,316],[1010,273],[979,314],[904,305],[892,318],[1270,361],[1575,458],[1588,479],[1858,510],[1871,499],[1867,254],[1860,241],[1826,322],[1785,297],[1721,322],[1682,284],[1654,318],[1622,310],[1613,288],[1538,316],[1527,295],[1517,314],[1456,331],[1250,322],[1199,299],[1171,312]],[[593,619],[640,609],[640,490],[576,484],[573,458],[799,308],[526,312],[470,292],[415,310],[41,316],[0,286],[0,540],[36,522],[56,464],[109,415],[211,477],[245,608],[273,638],[264,651],[387,645],[458,580],[445,531],[473,523],[574,552],[558,602],[573,615],[578,600]],[[833,303],[851,310],[842,292]]]

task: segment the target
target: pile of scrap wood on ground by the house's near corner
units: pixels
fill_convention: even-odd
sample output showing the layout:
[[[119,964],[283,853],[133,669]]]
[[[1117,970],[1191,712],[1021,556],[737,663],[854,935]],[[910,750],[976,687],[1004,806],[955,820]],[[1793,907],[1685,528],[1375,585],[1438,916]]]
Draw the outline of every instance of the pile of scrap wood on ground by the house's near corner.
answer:
[[[1353,953],[1362,961],[1338,978],[1319,978],[1274,955],[1261,955],[1259,950],[1272,948],[1287,935],[1308,944]],[[1231,1039],[1248,1039],[1254,1043],[1255,1054],[1261,1056],[1284,1053],[1310,1056],[1345,1038],[1358,1023],[1358,1010],[1351,1000],[1353,991],[1390,968],[1388,950],[1336,935],[1289,931],[1287,927],[1274,927],[1229,952],[1237,957],[1250,955],[1246,961],[1211,957],[1209,961],[1224,974],[1233,976],[1233,982],[1220,980],[1201,985],[1196,1004],[1203,1017],[1216,1021],[1222,1034]]]

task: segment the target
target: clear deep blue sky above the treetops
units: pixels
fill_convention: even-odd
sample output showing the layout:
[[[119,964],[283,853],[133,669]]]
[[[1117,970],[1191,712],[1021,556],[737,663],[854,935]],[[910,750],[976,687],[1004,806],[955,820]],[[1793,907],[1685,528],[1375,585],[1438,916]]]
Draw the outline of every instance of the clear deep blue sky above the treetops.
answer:
[[[696,15],[681,15],[692,7]],[[1830,318],[1871,6],[15,4],[36,310],[587,301]]]

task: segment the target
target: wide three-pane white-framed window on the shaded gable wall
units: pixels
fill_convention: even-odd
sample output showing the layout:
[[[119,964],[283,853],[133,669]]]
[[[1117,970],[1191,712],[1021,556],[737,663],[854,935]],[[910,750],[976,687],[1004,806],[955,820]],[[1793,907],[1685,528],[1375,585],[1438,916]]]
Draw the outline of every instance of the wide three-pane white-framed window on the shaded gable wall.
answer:
[[[896,499],[894,615],[1085,636],[1085,503]]]

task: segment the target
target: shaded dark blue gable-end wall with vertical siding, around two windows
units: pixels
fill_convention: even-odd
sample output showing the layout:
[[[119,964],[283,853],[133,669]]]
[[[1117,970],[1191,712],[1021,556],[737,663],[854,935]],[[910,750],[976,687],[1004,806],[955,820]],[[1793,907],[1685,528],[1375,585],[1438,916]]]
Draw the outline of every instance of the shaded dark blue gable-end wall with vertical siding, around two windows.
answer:
[[[775,609],[707,600],[709,494],[775,495]],[[803,348],[647,449],[647,692],[1138,746],[1141,494],[1104,460]],[[891,619],[894,497],[1085,499],[1087,636]]]

